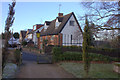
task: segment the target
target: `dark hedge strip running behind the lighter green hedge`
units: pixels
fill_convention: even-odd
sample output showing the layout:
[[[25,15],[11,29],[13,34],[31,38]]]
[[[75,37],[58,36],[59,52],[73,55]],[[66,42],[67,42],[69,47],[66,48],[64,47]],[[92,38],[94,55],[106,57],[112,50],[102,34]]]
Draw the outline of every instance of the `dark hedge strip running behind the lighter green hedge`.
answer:
[[[46,46],[46,53],[51,53],[52,48],[54,46]],[[82,52],[82,47],[81,46],[61,46],[61,51],[66,52]],[[88,51],[89,53],[94,53],[94,54],[102,54],[105,56],[110,56],[110,57],[119,57],[120,58],[120,49],[114,49],[114,48],[95,48],[93,46],[90,47],[90,50]]]

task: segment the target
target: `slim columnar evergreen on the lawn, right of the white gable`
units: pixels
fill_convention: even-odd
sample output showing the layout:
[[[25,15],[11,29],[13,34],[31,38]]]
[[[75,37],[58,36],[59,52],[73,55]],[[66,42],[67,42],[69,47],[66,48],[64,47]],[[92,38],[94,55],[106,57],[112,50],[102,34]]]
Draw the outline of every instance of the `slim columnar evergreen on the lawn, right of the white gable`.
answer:
[[[83,61],[84,61],[84,70],[86,72],[86,77],[88,77],[89,68],[90,68],[90,58],[88,55],[89,46],[91,45],[91,33],[90,33],[90,27],[87,20],[86,15],[86,21],[85,21],[85,27],[83,32],[83,44],[82,44],[82,50],[83,50]]]

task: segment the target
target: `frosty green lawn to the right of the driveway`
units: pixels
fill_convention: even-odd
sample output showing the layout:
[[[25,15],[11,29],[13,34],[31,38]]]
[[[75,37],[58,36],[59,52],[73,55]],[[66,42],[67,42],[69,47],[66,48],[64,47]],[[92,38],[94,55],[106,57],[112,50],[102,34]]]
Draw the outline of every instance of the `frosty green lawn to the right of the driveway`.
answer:
[[[85,72],[83,63],[61,62],[59,63],[69,73],[77,78],[84,78]],[[90,78],[120,78],[120,74],[113,72],[113,64],[91,64]]]

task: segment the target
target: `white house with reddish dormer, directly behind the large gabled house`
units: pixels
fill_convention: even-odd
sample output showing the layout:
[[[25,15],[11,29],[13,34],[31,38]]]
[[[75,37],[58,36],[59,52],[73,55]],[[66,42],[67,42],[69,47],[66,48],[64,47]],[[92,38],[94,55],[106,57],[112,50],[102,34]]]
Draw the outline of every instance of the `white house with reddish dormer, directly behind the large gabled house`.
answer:
[[[32,41],[34,42],[34,45],[37,46],[38,44],[38,39],[37,39],[37,36],[36,36],[36,32],[39,30],[39,32],[41,32],[41,30],[43,29],[43,24],[36,24],[36,25],[33,25],[33,31],[32,31]]]

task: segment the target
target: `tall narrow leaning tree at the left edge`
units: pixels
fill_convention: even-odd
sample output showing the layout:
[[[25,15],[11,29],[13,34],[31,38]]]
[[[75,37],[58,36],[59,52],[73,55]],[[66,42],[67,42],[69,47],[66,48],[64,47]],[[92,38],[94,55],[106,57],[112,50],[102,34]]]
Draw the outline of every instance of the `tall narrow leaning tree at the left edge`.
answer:
[[[6,22],[5,22],[5,47],[3,48],[3,51],[2,51],[2,70],[5,66],[5,63],[7,61],[7,57],[8,57],[8,40],[10,38],[10,27],[12,26],[13,22],[14,22],[14,14],[15,14],[15,10],[14,10],[14,7],[15,7],[15,4],[16,4],[16,1],[13,0],[12,4],[9,4],[9,12],[8,12],[8,16],[7,16],[7,19],[6,19]]]

